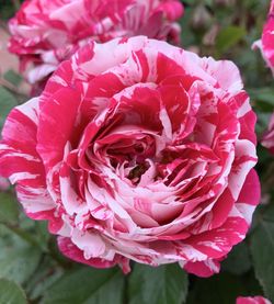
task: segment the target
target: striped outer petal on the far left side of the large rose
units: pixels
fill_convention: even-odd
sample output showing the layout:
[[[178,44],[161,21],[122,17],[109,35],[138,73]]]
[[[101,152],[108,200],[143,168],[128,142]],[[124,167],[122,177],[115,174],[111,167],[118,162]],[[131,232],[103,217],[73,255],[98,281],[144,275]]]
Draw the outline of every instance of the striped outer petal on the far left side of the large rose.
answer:
[[[0,174],[16,183],[25,212],[36,219],[55,218],[45,170],[36,151],[38,99],[16,106],[8,116],[0,144]]]

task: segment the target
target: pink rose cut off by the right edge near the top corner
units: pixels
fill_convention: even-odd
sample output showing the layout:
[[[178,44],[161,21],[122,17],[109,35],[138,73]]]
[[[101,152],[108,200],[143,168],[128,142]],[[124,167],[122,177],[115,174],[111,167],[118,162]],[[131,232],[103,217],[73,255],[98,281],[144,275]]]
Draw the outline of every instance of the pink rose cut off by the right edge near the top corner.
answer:
[[[271,1],[269,18],[264,24],[262,37],[252,47],[261,49],[264,60],[274,74],[274,0]]]

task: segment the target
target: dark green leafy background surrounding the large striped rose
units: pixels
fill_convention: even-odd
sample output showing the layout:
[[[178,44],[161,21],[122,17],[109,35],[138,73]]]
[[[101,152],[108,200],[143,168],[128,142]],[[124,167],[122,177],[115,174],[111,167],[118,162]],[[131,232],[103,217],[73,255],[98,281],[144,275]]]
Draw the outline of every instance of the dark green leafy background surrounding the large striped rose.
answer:
[[[231,59],[240,68],[258,113],[259,138],[274,111],[274,82],[259,52],[251,45],[261,35],[267,0],[185,0],[182,44],[202,56]],[[20,1],[0,0],[1,26]],[[0,58],[1,65],[1,58]],[[13,90],[21,77],[2,75],[0,126],[9,111],[26,100]],[[133,264],[121,270],[96,270],[73,263],[56,248],[46,223],[24,216],[14,190],[0,192],[0,304],[230,304],[239,295],[264,295],[274,302],[274,158],[259,145],[256,167],[262,203],[246,240],[209,279],[187,275],[176,264],[150,268]]]

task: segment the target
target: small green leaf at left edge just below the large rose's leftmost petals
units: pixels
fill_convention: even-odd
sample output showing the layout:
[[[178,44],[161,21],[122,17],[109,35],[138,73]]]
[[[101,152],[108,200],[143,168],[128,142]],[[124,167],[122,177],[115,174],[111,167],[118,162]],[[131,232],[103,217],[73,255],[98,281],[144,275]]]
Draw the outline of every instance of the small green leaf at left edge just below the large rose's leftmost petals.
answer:
[[[0,192],[0,223],[14,224],[19,218],[19,206],[14,196],[8,192]]]

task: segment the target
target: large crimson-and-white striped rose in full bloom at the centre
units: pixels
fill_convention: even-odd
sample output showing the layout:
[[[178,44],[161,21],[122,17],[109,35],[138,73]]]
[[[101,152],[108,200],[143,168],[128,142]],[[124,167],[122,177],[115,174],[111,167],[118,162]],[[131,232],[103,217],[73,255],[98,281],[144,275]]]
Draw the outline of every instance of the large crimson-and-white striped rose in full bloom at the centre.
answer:
[[[207,277],[259,202],[254,123],[231,61],[144,36],[89,43],[10,113],[0,173],[73,260]]]

